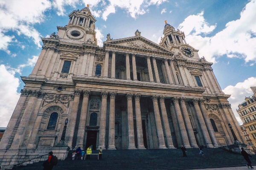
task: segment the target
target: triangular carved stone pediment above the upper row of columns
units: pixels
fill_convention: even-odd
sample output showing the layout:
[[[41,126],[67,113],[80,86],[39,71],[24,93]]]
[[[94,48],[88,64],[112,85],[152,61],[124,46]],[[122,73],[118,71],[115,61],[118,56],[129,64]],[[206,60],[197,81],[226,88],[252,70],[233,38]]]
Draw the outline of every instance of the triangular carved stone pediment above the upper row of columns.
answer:
[[[160,45],[141,36],[128,37],[117,40],[108,40],[105,41],[104,44],[112,44],[128,48],[139,48],[143,50],[173,53],[172,51],[169,51],[168,49],[163,48]]]

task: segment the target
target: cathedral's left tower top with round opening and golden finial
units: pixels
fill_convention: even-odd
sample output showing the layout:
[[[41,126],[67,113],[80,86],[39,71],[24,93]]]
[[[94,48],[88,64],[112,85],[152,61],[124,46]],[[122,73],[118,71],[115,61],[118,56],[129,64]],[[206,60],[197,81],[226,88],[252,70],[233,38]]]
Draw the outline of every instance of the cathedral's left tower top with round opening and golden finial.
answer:
[[[89,5],[80,11],[71,12],[68,16],[68,24],[64,27],[57,27],[58,37],[97,45],[95,32],[96,19],[91,14]]]

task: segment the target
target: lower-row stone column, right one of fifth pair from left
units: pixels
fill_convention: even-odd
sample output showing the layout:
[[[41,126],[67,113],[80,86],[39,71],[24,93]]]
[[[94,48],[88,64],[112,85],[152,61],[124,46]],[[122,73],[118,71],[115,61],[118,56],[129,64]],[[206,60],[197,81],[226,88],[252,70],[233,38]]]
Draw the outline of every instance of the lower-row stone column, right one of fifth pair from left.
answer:
[[[198,147],[196,140],[195,140],[195,134],[194,134],[194,130],[193,127],[191,125],[190,119],[189,119],[189,113],[188,110],[186,108],[186,103],[185,103],[186,98],[185,97],[180,97],[180,104],[181,104],[181,109],[182,109],[182,113],[183,113],[183,117],[186,123],[186,127],[187,127],[187,131],[188,131],[188,135],[189,135],[189,141],[190,141],[190,145],[191,147]]]

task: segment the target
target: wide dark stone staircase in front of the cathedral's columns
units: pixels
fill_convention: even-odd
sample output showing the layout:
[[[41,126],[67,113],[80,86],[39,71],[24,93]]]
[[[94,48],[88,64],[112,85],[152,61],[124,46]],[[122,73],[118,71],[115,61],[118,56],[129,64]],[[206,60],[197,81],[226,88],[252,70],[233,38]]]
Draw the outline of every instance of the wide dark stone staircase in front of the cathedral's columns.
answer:
[[[58,161],[52,170],[189,170],[217,167],[245,166],[243,156],[219,148],[203,149],[204,156],[199,155],[199,149],[187,149],[183,157],[180,149],[157,150],[103,150],[102,160],[98,156],[90,156],[90,160],[72,161],[70,151],[67,159]],[[99,153],[93,150],[93,153]],[[108,156],[109,155],[109,156]],[[255,164],[255,156],[251,158]],[[43,161],[14,170],[40,170]]]

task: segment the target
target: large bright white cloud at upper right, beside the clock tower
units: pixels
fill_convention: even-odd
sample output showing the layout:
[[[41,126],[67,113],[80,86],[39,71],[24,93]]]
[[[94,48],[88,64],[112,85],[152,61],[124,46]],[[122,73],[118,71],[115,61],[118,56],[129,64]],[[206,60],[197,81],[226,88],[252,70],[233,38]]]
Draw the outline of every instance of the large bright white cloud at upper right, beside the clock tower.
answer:
[[[240,13],[238,20],[230,21],[226,28],[212,37],[207,37],[215,25],[209,26],[203,12],[190,15],[178,28],[184,31],[186,42],[200,49],[200,56],[215,62],[216,57],[244,58],[245,62],[256,62],[256,0],[250,0]],[[191,21],[189,21],[191,20]]]

